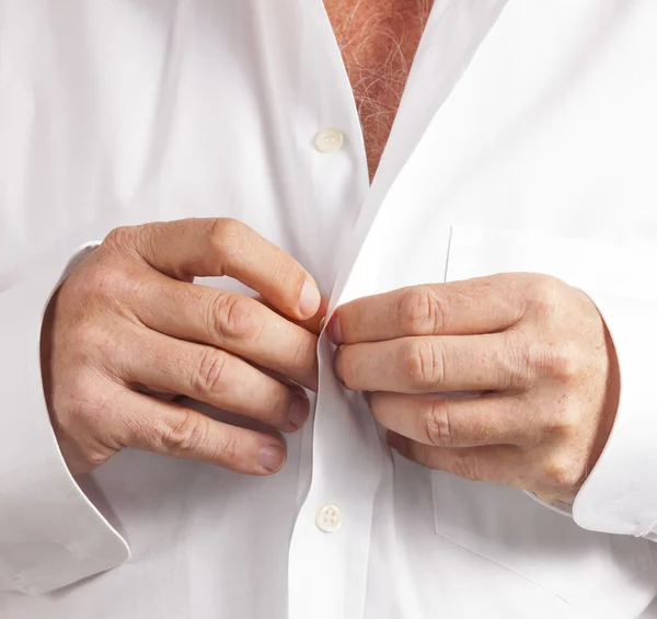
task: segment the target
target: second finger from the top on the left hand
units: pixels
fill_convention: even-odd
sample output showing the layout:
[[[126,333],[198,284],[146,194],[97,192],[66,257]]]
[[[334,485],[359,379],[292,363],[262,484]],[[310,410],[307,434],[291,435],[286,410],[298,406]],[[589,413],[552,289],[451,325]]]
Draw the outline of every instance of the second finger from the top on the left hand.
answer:
[[[150,329],[223,348],[316,390],[316,336],[255,299],[164,275],[134,295],[135,314]]]

